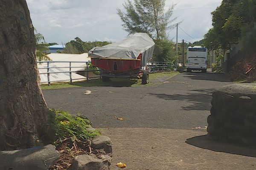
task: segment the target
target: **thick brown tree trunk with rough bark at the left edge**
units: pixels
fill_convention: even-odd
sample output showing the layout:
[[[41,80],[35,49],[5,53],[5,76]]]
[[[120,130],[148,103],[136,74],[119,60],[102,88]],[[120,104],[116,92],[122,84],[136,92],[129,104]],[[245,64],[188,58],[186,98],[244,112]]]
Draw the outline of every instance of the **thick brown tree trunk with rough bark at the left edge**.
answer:
[[[49,119],[26,0],[0,0],[0,150],[44,142]]]

